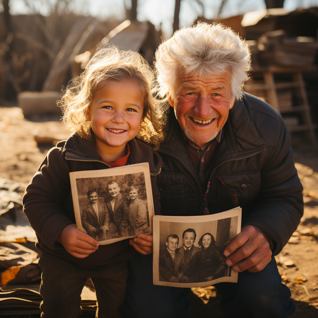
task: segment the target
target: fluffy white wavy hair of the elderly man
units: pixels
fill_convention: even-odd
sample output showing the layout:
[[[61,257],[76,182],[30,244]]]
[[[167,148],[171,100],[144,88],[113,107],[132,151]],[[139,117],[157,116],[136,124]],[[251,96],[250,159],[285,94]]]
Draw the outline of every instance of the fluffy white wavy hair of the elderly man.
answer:
[[[207,78],[228,68],[232,96],[240,99],[251,70],[251,54],[246,41],[231,28],[200,22],[163,42],[156,51],[155,66],[162,98],[175,92],[180,73]]]

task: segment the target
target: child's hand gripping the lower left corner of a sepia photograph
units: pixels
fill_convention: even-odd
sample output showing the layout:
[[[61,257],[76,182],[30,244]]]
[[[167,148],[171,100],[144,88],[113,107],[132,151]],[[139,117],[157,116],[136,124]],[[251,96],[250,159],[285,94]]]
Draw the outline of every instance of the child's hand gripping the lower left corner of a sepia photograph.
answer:
[[[85,258],[98,249],[98,242],[88,234],[79,230],[76,224],[67,225],[57,242],[61,243],[67,252],[77,258]]]

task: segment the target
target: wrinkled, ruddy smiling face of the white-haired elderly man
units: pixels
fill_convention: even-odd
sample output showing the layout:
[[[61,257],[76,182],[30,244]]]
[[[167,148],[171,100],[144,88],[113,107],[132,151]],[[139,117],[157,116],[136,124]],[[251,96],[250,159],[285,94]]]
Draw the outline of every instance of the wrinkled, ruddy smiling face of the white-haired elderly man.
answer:
[[[185,135],[199,146],[204,145],[218,135],[233,107],[230,72],[207,79],[185,75],[168,100]]]

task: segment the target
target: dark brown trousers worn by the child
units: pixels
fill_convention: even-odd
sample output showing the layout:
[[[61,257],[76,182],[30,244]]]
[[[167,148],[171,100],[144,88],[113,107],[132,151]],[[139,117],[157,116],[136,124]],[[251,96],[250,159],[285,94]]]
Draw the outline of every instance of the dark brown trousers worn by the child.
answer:
[[[127,262],[83,268],[51,253],[42,253],[43,268],[40,294],[42,318],[76,318],[82,311],[80,294],[88,278],[95,287],[99,318],[122,318],[119,308],[124,302]]]

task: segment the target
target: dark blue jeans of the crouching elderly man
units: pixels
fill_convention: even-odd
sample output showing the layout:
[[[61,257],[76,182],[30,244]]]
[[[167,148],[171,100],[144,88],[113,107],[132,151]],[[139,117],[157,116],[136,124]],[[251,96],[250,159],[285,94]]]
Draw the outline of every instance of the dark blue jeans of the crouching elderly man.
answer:
[[[128,270],[126,300],[121,307],[124,317],[190,317],[190,288],[153,285],[152,255],[136,253],[128,261]],[[239,273],[237,283],[218,283],[215,287],[222,296],[220,308],[228,318],[285,318],[295,311],[274,257],[262,271]]]

